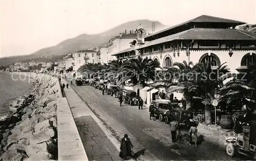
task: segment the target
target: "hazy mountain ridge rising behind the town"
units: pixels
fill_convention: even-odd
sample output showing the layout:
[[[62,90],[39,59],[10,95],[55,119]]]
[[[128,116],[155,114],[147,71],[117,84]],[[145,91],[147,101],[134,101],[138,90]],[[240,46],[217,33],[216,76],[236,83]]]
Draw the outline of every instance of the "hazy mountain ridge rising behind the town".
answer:
[[[27,59],[40,58],[40,57],[53,57],[59,55],[68,55],[76,50],[92,48],[99,46],[100,44],[107,43],[109,40],[115,36],[118,36],[119,33],[124,33],[125,30],[127,34],[130,33],[130,30],[135,31],[138,25],[141,23],[143,28],[149,32],[152,31],[152,22],[155,22],[156,31],[165,29],[166,26],[160,23],[159,21],[151,21],[151,20],[135,20],[123,23],[121,25],[116,26],[115,28],[94,35],[81,34],[75,38],[67,39],[56,46],[42,48],[36,52],[33,52],[27,56],[17,56],[17,57],[9,57],[9,58],[1,58],[0,66],[8,65],[15,63],[17,61],[23,61]]]

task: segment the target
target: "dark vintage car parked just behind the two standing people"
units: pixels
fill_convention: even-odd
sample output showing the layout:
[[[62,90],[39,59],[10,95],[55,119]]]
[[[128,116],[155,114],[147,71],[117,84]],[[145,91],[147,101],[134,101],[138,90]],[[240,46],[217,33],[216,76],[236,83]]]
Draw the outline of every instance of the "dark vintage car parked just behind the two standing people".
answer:
[[[174,118],[177,119],[181,128],[189,128],[189,119],[193,119],[193,112],[188,110],[172,109],[164,114],[165,123],[169,123]]]

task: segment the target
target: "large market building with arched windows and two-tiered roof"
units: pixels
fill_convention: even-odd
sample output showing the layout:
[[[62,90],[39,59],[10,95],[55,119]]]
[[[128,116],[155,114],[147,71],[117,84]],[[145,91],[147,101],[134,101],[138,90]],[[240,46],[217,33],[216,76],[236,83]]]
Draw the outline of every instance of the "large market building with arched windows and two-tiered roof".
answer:
[[[174,62],[226,62],[230,72],[256,64],[256,34],[235,29],[245,22],[202,15],[144,37],[145,44],[117,52],[117,59],[151,58],[161,67]]]

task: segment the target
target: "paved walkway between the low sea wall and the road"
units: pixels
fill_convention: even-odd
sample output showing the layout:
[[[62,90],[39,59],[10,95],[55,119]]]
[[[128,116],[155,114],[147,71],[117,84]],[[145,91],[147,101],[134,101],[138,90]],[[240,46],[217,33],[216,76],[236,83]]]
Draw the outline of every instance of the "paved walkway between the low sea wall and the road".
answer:
[[[67,84],[65,80],[61,83]],[[119,143],[72,88],[64,89],[89,160],[120,160]]]

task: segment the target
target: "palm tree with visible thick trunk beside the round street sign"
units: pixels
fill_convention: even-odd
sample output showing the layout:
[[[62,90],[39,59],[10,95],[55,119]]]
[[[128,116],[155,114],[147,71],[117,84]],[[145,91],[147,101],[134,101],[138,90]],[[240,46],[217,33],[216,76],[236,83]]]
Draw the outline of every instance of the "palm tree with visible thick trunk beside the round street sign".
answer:
[[[208,62],[197,63],[191,69],[185,68],[187,72],[183,70],[178,88],[173,89],[173,91],[183,90],[184,97],[190,101],[194,96],[202,98],[202,103],[205,106],[206,124],[211,124],[211,102],[217,95],[220,95],[223,78],[227,78],[224,75],[229,72],[224,64],[221,64],[215,70],[212,70],[211,64]]]

